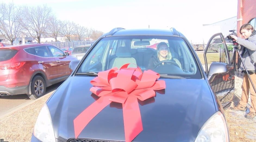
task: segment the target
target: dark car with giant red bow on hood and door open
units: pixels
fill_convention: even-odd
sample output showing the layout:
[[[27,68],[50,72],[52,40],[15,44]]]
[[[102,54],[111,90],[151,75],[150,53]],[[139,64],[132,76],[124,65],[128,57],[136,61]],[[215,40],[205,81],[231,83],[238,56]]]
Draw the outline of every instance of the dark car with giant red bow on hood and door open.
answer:
[[[148,65],[157,52],[146,48],[152,39],[165,40],[178,54],[175,62],[159,62],[170,64],[156,65],[154,72]],[[70,62],[73,72],[42,107],[31,141],[227,142],[224,109],[235,82],[233,62],[226,59],[204,71],[192,45],[174,28],[115,28],[81,61]],[[155,81],[165,82],[165,89],[153,91]]]

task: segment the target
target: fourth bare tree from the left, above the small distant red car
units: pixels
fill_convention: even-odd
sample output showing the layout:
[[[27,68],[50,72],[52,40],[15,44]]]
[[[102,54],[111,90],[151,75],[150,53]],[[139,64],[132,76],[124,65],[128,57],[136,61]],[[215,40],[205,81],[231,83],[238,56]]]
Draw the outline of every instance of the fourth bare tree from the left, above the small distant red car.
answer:
[[[61,22],[61,34],[63,34],[67,39],[70,41],[70,36],[75,33],[75,23],[69,21],[62,21]]]

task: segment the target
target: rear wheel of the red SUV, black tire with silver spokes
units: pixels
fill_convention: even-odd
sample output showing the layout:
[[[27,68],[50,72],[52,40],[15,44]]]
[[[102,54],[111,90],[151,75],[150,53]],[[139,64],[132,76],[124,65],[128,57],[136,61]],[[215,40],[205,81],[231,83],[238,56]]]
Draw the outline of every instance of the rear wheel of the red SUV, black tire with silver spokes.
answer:
[[[31,94],[28,94],[29,98],[32,100],[36,100],[45,95],[45,92],[46,83],[44,81],[44,78],[39,75],[35,76],[31,82]]]

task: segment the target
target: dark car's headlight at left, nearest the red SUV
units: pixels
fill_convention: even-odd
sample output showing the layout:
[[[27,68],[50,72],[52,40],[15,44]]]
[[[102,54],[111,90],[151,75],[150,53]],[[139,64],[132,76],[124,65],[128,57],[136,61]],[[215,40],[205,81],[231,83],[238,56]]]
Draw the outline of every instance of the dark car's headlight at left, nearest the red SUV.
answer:
[[[33,133],[42,142],[56,141],[47,104],[44,104],[38,115]]]

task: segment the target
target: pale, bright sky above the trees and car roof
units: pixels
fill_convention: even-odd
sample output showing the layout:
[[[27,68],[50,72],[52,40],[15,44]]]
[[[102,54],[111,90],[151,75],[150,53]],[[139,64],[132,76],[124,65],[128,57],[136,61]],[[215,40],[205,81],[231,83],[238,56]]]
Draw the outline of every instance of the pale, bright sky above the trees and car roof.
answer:
[[[203,24],[237,15],[237,0],[0,0],[16,5],[44,5],[60,20],[88,28],[110,31],[125,29],[169,29],[174,27],[188,39],[200,36]]]

